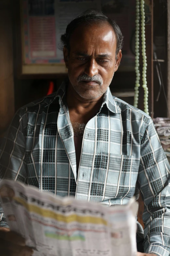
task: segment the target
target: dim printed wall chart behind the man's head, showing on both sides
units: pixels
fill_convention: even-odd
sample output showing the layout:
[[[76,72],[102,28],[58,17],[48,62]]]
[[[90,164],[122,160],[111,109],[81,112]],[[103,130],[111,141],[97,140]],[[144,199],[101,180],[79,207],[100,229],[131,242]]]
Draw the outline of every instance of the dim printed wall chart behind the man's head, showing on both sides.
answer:
[[[135,5],[131,2],[134,0],[21,0],[22,65],[25,73],[33,71],[30,69],[32,71],[29,72],[28,66],[39,66],[42,73],[65,73],[60,37],[73,18],[91,8],[102,10],[116,20],[124,36],[121,65],[133,65],[135,57],[130,42],[135,32]],[[47,71],[43,66],[58,68]]]

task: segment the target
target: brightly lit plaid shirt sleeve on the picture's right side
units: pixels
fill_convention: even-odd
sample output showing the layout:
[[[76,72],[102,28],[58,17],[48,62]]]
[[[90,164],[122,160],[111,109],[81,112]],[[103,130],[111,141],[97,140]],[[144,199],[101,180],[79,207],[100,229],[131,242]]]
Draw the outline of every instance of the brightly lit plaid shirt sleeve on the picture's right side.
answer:
[[[141,140],[138,185],[144,200],[144,252],[170,254],[170,165],[152,120]]]

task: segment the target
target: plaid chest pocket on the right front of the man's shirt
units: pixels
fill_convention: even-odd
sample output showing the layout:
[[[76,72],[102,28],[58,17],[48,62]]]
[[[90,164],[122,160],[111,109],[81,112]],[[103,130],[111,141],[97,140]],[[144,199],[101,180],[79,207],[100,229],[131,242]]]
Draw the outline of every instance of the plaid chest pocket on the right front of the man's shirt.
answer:
[[[96,173],[96,194],[105,196],[105,199],[133,194],[135,184],[132,185],[132,167],[133,156],[102,152]]]

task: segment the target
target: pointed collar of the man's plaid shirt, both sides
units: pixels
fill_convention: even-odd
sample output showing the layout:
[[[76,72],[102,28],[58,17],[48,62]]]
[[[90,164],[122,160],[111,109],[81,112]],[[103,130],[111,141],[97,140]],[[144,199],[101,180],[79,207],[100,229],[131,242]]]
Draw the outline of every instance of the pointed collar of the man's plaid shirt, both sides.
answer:
[[[63,96],[65,94],[65,90],[66,90],[66,85],[65,82],[62,82],[60,88],[58,89],[57,93],[55,94],[54,98],[52,99],[52,101],[50,102],[50,104],[58,97],[59,98],[59,103],[61,103]],[[50,105],[49,104],[49,105]],[[119,107],[116,105],[115,100],[113,99],[113,96],[110,92],[110,88],[108,87],[104,97],[103,97],[103,103],[101,108],[106,104],[107,108],[113,112],[113,113],[118,113],[120,114],[120,109]]]

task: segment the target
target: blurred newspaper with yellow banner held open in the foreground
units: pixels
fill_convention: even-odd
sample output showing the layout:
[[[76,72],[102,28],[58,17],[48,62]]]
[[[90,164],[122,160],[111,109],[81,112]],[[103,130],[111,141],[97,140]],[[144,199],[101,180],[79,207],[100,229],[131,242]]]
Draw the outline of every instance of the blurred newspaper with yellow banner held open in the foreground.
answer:
[[[0,201],[10,230],[25,238],[34,256],[136,255],[134,199],[106,207],[3,180]]]

